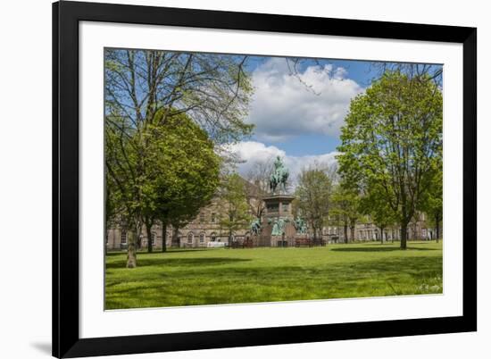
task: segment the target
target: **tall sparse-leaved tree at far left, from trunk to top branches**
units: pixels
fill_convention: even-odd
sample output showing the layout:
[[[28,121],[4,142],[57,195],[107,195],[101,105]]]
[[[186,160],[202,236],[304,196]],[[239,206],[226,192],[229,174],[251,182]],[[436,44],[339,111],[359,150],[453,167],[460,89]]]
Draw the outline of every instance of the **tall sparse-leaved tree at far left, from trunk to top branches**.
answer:
[[[144,227],[152,250],[155,129],[191,118],[216,145],[249,135],[253,125],[243,119],[252,87],[245,60],[233,55],[105,51],[106,179],[117,188],[114,198],[122,222],[135,232],[129,236],[129,266],[136,265],[133,242]],[[183,113],[188,117],[179,117]]]

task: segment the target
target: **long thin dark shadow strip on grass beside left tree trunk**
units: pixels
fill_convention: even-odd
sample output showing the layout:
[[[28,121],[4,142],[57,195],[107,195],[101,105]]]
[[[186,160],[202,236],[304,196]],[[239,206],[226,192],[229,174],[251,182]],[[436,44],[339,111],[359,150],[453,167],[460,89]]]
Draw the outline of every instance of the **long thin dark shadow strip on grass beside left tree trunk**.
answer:
[[[220,265],[238,262],[249,262],[251,259],[242,258],[227,258],[227,257],[212,257],[212,258],[162,258],[162,257],[137,257],[137,267],[146,266],[163,266],[163,267],[200,267],[210,265]],[[124,268],[126,266],[126,258],[112,263],[106,263],[105,268]]]

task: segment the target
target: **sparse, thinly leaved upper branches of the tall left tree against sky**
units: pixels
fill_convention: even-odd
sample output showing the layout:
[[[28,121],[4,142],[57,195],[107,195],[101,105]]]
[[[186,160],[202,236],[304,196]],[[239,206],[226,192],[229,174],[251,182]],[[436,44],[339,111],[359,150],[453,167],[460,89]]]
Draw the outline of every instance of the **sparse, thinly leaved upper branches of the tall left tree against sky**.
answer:
[[[125,116],[135,129],[154,123],[159,110],[161,124],[187,113],[220,144],[254,127],[243,121],[253,89],[247,56],[106,49],[104,58],[106,113]]]

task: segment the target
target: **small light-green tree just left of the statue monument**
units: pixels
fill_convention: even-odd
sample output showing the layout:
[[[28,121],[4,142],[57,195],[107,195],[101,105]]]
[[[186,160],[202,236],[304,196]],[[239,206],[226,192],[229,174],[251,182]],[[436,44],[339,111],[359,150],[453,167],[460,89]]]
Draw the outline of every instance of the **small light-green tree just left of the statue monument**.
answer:
[[[252,216],[245,193],[245,180],[237,173],[224,176],[219,190],[221,203],[220,226],[229,234],[229,246],[237,230],[248,227]]]

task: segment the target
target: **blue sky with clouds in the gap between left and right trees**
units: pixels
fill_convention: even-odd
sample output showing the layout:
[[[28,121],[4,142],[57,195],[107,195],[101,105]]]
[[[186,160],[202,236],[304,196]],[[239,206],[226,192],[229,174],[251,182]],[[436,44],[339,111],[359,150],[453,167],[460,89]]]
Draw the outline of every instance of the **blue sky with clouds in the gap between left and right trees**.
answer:
[[[299,172],[313,163],[336,163],[339,133],[351,100],[370,87],[379,73],[373,63],[348,60],[300,61],[295,75],[284,57],[248,59],[254,87],[248,123],[254,135],[231,146],[243,161],[247,176],[255,163],[284,158],[295,183]]]

